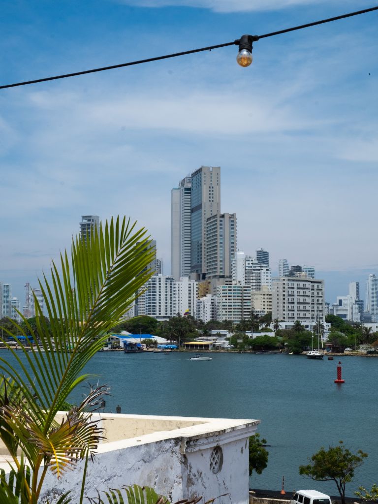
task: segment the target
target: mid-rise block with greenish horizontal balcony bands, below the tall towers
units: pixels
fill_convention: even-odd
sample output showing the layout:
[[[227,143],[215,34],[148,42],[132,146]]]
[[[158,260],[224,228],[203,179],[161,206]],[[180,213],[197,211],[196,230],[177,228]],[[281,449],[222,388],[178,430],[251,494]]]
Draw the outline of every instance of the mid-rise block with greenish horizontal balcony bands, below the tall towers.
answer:
[[[217,287],[218,320],[230,320],[234,324],[249,317],[252,309],[249,285],[220,285]]]

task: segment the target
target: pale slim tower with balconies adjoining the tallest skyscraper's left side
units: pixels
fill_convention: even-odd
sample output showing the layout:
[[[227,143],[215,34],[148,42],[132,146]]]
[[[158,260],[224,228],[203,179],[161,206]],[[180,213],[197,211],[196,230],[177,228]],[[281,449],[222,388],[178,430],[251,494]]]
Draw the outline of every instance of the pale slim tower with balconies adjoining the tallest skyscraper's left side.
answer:
[[[192,178],[183,178],[171,193],[171,256],[175,280],[191,274]]]

